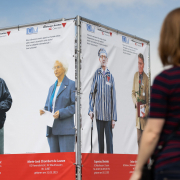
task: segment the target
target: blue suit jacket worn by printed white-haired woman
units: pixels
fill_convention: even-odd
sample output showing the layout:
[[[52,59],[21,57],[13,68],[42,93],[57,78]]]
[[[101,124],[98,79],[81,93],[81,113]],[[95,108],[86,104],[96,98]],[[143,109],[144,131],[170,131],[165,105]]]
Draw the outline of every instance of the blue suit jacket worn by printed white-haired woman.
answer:
[[[49,88],[44,109],[50,111],[50,98],[54,84]],[[54,120],[53,127],[47,126],[46,136],[53,135],[74,135],[74,114],[75,114],[75,82],[66,75],[57,93],[54,112],[59,110],[60,117]]]

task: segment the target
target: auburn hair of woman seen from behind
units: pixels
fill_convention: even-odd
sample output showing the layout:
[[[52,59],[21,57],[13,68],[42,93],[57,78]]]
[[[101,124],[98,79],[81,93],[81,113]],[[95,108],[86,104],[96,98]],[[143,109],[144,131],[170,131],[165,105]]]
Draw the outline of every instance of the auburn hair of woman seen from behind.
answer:
[[[159,56],[163,65],[180,65],[180,8],[171,11],[164,19]]]

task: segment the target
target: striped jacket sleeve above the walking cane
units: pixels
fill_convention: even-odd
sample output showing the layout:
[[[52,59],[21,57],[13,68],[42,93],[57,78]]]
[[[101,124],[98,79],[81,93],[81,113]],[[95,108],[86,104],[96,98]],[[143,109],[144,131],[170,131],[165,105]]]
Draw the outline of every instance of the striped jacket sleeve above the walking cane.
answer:
[[[88,110],[88,115],[90,112],[93,112],[94,113],[94,102],[95,102],[95,93],[96,93],[96,86],[97,86],[97,83],[96,83],[96,73],[94,75],[94,78],[93,78],[93,82],[92,82],[92,85],[91,85],[91,91],[89,93],[89,110]]]

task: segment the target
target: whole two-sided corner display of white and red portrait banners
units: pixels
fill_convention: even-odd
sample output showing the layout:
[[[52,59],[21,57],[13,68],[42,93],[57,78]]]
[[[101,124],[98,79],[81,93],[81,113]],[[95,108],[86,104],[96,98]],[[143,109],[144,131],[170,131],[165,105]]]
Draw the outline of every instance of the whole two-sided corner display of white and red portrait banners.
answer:
[[[149,112],[150,42],[80,16],[0,29],[0,40],[12,97],[0,178],[128,180]]]

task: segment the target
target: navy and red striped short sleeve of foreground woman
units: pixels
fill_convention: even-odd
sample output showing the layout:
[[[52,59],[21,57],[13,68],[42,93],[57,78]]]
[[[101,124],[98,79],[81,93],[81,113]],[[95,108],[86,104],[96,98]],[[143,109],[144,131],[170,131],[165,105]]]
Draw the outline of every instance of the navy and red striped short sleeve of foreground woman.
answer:
[[[166,117],[169,86],[166,75],[160,74],[155,78],[151,91],[150,118]]]

